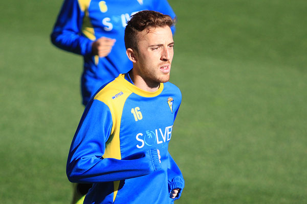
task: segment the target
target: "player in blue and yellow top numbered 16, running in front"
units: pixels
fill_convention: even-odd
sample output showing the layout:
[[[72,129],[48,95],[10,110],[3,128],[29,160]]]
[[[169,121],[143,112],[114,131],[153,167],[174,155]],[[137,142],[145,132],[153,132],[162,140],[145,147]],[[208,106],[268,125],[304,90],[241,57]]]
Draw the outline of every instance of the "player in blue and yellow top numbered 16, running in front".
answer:
[[[71,144],[67,175],[93,183],[84,203],[173,203],[184,188],[168,152],[181,92],[169,81],[173,19],[135,14],[125,29],[133,68],[86,105]]]

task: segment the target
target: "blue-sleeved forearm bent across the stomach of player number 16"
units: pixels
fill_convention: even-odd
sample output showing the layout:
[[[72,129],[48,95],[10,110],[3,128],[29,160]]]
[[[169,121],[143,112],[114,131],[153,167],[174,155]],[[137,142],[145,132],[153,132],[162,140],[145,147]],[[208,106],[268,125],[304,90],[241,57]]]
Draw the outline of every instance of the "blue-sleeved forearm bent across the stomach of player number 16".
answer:
[[[122,160],[83,157],[68,163],[67,176],[76,183],[111,182],[147,175],[160,168],[157,149],[149,149]]]

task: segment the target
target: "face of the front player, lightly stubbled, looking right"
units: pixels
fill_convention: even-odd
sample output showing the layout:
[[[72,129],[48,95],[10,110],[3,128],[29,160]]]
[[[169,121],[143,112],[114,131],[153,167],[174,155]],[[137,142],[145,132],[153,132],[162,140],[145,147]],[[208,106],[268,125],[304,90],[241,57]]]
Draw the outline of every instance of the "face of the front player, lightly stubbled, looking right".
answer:
[[[169,80],[173,58],[173,38],[168,26],[144,30],[138,34],[136,68],[147,85],[155,86]]]

